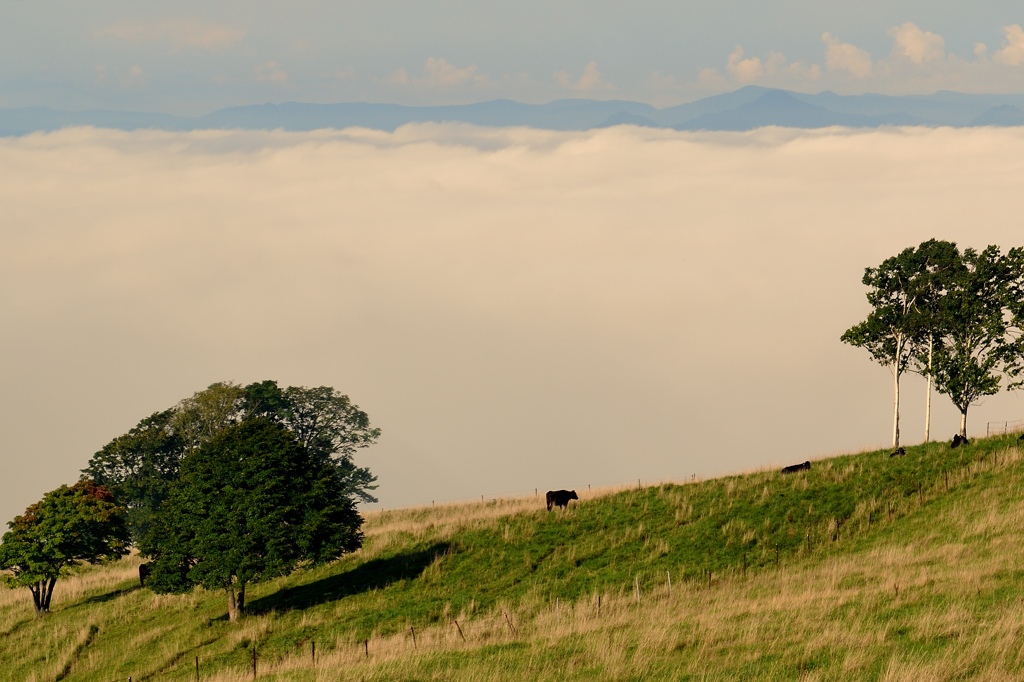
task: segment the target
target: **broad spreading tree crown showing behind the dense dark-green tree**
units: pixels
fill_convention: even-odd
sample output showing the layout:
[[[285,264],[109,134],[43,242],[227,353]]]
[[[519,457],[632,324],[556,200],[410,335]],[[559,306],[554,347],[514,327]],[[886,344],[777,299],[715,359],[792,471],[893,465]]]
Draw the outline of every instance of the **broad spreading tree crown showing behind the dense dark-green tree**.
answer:
[[[367,413],[330,386],[283,389],[274,381],[212,384],[112,440],[89,460],[82,475],[109,486],[128,507],[137,544],[178,477],[182,458],[254,416],[279,422],[303,446],[333,462],[342,481],[341,495],[377,501],[372,494],[376,477],[353,460],[358,449],[380,437]]]

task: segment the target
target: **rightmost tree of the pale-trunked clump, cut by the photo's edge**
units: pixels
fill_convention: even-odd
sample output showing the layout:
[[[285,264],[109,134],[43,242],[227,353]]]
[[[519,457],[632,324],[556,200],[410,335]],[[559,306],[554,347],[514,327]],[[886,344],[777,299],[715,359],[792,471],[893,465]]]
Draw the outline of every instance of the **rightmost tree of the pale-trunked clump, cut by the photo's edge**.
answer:
[[[989,246],[964,251],[937,306],[937,342],[932,374],[936,389],[961,413],[967,437],[972,404],[999,390],[1004,372],[1016,376],[1020,357],[1021,250],[1006,256]],[[1017,358],[1017,359],[1015,359]]]

